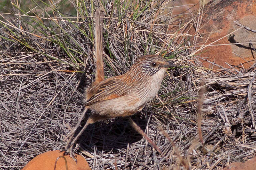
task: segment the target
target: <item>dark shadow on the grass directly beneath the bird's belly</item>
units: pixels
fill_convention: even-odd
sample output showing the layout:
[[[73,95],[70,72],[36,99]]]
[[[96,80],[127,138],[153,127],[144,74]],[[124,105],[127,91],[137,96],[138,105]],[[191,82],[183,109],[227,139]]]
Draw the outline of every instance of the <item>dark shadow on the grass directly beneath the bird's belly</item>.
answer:
[[[84,119],[82,126],[88,116],[89,114]],[[144,114],[137,113],[132,116],[132,119],[144,131],[147,120],[143,117]],[[80,136],[78,143],[85,150],[90,150],[95,146],[98,151],[109,152],[112,149],[126,148],[128,143],[135,143],[141,138],[142,136],[130,125],[128,118],[116,118],[89,125]]]

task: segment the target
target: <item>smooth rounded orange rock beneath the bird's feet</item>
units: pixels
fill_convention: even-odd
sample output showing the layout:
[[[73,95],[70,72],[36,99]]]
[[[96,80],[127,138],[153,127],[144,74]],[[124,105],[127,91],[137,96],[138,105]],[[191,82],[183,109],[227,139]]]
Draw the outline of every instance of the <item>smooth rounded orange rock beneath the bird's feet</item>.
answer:
[[[88,163],[82,156],[76,155],[76,164],[76,162],[71,157],[69,157],[69,155],[63,154],[64,152],[59,150],[44,152],[33,158],[24,168],[22,168],[22,170],[53,170],[55,161],[59,156],[63,157],[58,158],[55,170],[66,169],[64,158],[67,160],[68,170],[91,170]]]

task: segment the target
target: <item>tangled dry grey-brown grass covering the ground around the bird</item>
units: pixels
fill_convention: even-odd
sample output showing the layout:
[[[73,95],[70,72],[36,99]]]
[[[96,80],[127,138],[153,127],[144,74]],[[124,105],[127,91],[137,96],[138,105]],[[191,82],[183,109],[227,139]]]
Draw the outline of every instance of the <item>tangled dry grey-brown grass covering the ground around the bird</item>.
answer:
[[[255,66],[203,68],[191,55],[193,45],[179,47],[188,45],[188,37],[200,36],[198,32],[168,34],[171,23],[157,24],[164,6],[157,1],[140,3],[129,8],[122,8],[121,2],[103,5],[105,75],[123,74],[143,54],[157,53],[180,65],[169,70],[158,96],[131,117],[162,153],[131,127],[128,118],[90,125],[76,152],[93,155],[85,156],[92,169],[120,170],[187,169],[181,161],[191,169],[221,169],[255,156]],[[32,10],[35,18],[0,21],[0,169],[21,169],[40,153],[64,148],[63,138],[83,110],[83,88],[94,79],[93,18],[87,7],[87,1],[76,4],[77,15],[83,17],[79,22],[58,13],[53,4],[40,9],[42,13]],[[200,21],[200,15],[194,21]],[[184,44],[176,44],[178,38]],[[207,92],[201,130],[207,153],[200,148],[197,128],[202,79]]]

